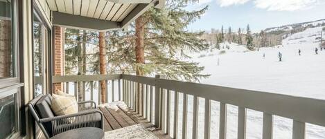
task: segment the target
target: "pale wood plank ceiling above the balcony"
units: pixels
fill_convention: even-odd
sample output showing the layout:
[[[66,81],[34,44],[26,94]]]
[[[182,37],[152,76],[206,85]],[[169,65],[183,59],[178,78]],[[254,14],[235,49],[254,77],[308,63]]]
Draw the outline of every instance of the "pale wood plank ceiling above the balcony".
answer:
[[[46,0],[53,11],[107,21],[123,21],[137,3],[114,3],[107,0]]]

